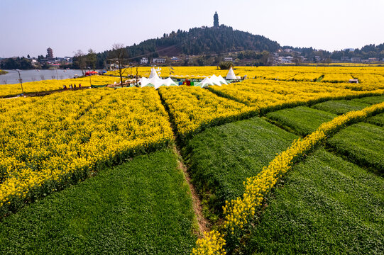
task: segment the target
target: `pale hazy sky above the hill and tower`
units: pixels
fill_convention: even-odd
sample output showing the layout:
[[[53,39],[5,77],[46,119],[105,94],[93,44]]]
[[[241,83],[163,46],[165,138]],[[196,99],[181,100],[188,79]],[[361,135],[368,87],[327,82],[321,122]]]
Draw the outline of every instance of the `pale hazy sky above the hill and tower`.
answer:
[[[133,45],[172,30],[213,26],[280,45],[341,50],[384,42],[384,0],[0,0],[0,57],[72,56]]]

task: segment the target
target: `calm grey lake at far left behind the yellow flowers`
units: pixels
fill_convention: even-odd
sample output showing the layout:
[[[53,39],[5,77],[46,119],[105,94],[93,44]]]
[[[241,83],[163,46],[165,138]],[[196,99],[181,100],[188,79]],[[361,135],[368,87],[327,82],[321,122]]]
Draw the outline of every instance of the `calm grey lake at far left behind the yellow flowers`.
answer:
[[[8,72],[8,74],[1,74],[0,75],[0,84],[18,84],[18,72],[15,70],[4,70]],[[28,81],[41,81],[46,79],[69,79],[75,77],[75,74],[77,76],[82,75],[81,70],[75,70],[75,69],[46,69],[46,70],[21,70],[21,79],[23,82]]]

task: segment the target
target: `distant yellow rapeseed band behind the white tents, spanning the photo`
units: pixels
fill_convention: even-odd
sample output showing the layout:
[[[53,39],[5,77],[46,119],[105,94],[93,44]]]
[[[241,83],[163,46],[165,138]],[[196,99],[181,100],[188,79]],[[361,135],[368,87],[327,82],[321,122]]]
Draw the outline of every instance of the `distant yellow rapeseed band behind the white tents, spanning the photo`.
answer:
[[[138,75],[141,77],[149,77],[151,67],[138,67]],[[218,67],[156,67],[159,69],[160,77],[169,77],[172,79],[204,79],[212,74],[226,77],[228,70],[221,70]],[[172,71],[172,74],[170,73]],[[346,86],[349,79],[358,79],[363,86],[375,86],[378,89],[384,89],[384,67],[363,66],[363,67],[235,67],[236,76],[262,79],[262,80],[278,80],[278,81],[321,81],[331,83],[341,83]],[[119,83],[118,77],[110,77],[109,75],[118,76],[117,71],[107,72],[103,76],[92,76],[93,85],[114,84]],[[136,75],[136,67],[127,68],[124,75]],[[89,77],[64,80],[45,80],[33,81],[23,84],[25,93],[51,91],[62,89],[62,86],[70,84],[82,84],[89,86]],[[356,86],[355,86],[356,87]],[[361,88],[358,86],[357,88]],[[21,86],[19,84],[8,84],[0,86],[0,97],[21,94]]]

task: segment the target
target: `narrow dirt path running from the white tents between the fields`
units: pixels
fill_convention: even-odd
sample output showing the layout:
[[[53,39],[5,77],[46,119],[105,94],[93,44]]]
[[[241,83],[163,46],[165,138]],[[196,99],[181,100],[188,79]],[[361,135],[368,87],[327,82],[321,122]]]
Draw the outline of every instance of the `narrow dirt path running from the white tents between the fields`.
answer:
[[[182,171],[185,177],[185,181],[188,184],[191,192],[191,197],[192,197],[192,208],[194,210],[194,214],[197,217],[197,223],[199,225],[199,233],[198,236],[202,237],[204,232],[209,232],[209,227],[208,227],[208,220],[204,217],[202,213],[202,203],[200,201],[199,195],[196,191],[196,188],[194,188],[194,185],[191,182],[190,179],[190,174],[188,173],[187,166],[184,164],[184,160],[182,159],[182,154],[180,153],[180,145],[178,145],[178,140],[177,140],[177,129],[175,122],[172,119],[172,115],[170,114],[168,105],[165,103],[164,99],[161,97],[161,94],[158,93],[160,96],[161,103],[163,104],[165,111],[168,114],[168,122],[171,125],[172,132],[173,132],[173,137],[175,140],[175,145],[173,146],[173,151],[177,155],[177,162],[179,163],[178,168]]]

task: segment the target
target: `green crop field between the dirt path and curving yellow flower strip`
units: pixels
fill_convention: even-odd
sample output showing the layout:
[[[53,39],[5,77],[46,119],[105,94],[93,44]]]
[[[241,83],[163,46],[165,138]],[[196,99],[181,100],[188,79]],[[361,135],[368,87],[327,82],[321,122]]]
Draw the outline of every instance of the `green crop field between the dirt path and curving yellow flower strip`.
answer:
[[[225,200],[241,195],[246,178],[258,174],[296,138],[261,118],[209,128],[187,145],[193,183],[202,194],[209,191],[207,202],[218,214]]]

